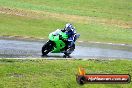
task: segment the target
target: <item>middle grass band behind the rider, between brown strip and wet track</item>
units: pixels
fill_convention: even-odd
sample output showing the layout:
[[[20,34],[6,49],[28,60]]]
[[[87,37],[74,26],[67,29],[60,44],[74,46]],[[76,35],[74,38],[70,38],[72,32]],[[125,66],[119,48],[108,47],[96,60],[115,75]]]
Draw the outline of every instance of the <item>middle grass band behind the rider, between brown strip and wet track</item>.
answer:
[[[57,28],[63,28],[66,21],[55,18],[34,19],[0,14],[0,35],[48,38]],[[132,44],[132,30],[98,23],[75,24],[80,40]]]

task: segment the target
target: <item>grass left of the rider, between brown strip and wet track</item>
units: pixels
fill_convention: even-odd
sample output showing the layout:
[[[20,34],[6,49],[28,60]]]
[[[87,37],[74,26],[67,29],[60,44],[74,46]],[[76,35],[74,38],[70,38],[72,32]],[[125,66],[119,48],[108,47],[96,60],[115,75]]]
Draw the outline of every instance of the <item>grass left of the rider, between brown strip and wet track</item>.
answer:
[[[0,35],[48,38],[48,34],[64,22],[45,19],[30,19],[0,14]]]

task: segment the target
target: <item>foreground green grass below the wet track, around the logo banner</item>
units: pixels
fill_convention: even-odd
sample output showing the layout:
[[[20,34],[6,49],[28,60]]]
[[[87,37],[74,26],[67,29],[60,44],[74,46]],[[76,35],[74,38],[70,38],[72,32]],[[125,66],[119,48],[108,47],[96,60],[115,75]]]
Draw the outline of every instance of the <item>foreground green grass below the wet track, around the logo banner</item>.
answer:
[[[131,60],[0,60],[0,88],[131,88],[130,84],[76,83],[78,67],[88,74],[130,74]]]

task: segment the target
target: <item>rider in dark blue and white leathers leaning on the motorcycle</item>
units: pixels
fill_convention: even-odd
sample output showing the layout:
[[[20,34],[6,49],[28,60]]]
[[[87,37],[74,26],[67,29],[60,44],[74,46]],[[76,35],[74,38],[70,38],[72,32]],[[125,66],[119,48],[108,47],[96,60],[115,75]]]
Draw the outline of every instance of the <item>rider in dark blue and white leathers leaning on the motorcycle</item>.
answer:
[[[66,43],[65,51],[68,48],[71,48],[74,45],[74,43],[77,40],[77,38],[80,36],[79,34],[76,33],[76,29],[71,23],[67,23],[65,25],[64,29],[62,29],[62,30],[57,29],[55,32],[53,32],[53,34],[57,35],[59,33],[59,31],[65,32],[68,35],[68,39],[67,40],[64,40],[60,36],[60,39]]]

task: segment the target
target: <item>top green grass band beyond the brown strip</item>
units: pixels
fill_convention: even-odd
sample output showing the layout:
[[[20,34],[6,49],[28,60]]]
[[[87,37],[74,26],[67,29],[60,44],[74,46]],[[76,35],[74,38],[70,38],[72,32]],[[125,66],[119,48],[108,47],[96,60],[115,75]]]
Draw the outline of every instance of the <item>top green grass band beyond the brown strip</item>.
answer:
[[[81,16],[132,20],[130,0],[0,0],[0,6]]]

